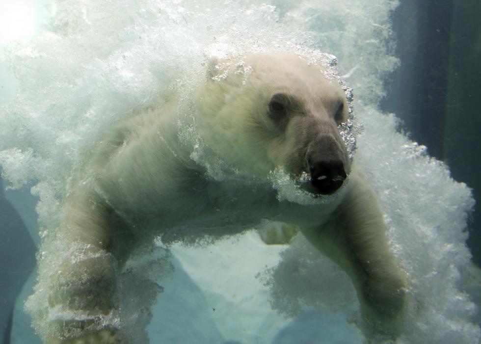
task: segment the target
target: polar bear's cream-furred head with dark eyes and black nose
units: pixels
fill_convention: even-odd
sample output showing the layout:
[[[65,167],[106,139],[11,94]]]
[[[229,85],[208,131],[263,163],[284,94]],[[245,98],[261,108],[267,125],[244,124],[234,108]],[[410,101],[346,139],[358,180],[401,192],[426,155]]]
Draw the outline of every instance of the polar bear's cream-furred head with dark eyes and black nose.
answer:
[[[324,69],[294,53],[211,59],[197,99],[198,129],[227,163],[265,178],[276,167],[305,188],[335,192],[350,171],[338,125],[348,117],[346,94]]]

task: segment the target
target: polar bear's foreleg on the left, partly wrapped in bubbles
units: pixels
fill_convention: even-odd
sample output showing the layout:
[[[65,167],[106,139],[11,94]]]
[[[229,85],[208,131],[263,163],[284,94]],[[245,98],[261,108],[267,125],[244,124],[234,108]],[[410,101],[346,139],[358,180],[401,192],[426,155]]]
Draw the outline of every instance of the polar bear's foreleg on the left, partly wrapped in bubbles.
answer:
[[[116,329],[106,327],[105,319],[116,308],[116,271],[130,247],[119,242],[133,239],[91,188],[75,190],[63,210],[56,240],[65,251],[59,255],[58,272],[50,277],[48,299],[49,307],[59,309],[63,316],[51,321],[54,335],[46,343],[124,343],[117,338]]]

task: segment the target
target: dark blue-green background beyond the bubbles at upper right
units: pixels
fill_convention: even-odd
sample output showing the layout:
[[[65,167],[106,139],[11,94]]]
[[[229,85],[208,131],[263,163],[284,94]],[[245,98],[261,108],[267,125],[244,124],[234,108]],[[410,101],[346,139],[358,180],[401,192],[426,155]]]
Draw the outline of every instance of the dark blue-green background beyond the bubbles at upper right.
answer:
[[[401,67],[381,108],[473,188],[468,246],[481,266],[481,1],[401,0],[393,22]]]

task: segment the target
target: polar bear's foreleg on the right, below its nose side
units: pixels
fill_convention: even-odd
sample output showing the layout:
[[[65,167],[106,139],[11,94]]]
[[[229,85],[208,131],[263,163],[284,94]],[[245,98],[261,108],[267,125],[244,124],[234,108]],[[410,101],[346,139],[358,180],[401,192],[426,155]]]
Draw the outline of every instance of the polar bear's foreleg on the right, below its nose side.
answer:
[[[386,224],[373,190],[357,175],[349,183],[346,197],[322,228],[301,230],[346,270],[363,316],[390,321],[405,307],[406,277],[387,242]]]

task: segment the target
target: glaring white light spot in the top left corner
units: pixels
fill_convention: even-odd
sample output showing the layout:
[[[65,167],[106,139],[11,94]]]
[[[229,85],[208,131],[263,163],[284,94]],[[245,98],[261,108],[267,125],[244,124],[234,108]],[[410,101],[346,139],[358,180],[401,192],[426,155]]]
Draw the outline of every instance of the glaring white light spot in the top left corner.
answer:
[[[34,33],[33,9],[31,2],[0,2],[0,44],[27,38]]]

